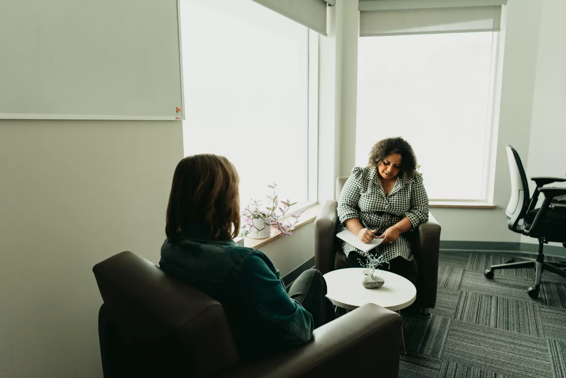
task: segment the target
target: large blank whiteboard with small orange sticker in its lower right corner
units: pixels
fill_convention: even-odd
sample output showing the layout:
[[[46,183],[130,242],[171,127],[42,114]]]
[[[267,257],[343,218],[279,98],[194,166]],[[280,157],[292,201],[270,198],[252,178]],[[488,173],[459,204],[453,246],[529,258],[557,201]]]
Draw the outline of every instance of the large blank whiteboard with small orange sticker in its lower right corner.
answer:
[[[1,0],[0,119],[183,119],[178,0]]]

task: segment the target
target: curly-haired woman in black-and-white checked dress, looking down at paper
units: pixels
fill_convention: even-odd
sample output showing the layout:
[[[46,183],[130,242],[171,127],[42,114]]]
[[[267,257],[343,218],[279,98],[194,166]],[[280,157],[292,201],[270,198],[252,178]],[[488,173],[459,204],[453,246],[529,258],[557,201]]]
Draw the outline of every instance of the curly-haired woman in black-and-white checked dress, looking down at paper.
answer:
[[[383,239],[374,250],[389,261],[380,269],[400,274],[417,284],[418,268],[404,233],[428,218],[428,196],[417,172],[417,158],[402,138],[378,141],[367,167],[355,167],[338,200],[338,232],[348,229],[363,243]],[[351,267],[365,264],[365,252],[343,242]]]

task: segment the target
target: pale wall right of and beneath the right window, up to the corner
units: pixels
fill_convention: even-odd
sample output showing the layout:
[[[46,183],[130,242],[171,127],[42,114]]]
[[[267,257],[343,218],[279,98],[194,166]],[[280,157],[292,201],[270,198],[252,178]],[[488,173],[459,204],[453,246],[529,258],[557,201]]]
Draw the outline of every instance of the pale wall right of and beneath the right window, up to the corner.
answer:
[[[494,188],[494,203],[497,208],[432,209],[436,220],[442,226],[442,240],[520,241],[520,235],[508,229],[505,217],[505,208],[511,194],[505,145],[513,145],[525,161],[530,156],[530,119],[541,2],[511,0],[505,10],[507,20],[505,32],[501,33],[501,40],[504,41],[504,61],[500,78],[501,98]]]

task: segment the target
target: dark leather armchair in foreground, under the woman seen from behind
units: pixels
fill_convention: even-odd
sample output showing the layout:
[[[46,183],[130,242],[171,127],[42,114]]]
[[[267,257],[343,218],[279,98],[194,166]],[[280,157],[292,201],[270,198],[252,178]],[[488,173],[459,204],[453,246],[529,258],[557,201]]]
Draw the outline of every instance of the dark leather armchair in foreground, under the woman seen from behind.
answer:
[[[306,345],[243,363],[220,303],[132,252],[93,268],[104,299],[104,377],[397,377],[401,317],[366,304],[315,329]]]

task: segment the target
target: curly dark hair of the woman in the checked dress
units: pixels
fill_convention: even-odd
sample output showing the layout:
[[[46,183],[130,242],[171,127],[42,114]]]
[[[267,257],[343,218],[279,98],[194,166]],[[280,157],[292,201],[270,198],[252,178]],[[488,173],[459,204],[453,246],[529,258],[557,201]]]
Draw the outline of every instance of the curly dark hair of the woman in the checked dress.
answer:
[[[381,160],[392,153],[401,155],[401,171],[399,175],[403,180],[410,180],[417,173],[417,157],[408,141],[397,136],[378,141],[371,148],[368,166],[378,167]]]

